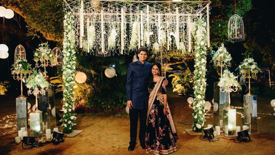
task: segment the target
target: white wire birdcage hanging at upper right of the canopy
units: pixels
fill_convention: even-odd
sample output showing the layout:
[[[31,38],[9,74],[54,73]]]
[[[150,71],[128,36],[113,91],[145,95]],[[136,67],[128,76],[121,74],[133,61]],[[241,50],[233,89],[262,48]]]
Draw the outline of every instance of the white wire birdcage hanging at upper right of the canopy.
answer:
[[[245,40],[243,19],[238,14],[234,14],[228,21],[228,40],[234,42]]]

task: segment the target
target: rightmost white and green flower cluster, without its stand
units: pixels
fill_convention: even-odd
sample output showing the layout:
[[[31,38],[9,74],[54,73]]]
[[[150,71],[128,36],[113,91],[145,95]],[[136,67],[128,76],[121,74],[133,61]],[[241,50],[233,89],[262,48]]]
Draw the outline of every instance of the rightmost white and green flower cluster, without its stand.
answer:
[[[254,59],[252,58],[244,59],[241,65],[239,65],[239,68],[243,76],[251,74],[253,79],[257,79],[257,73],[261,72],[261,69],[258,67],[257,63],[254,62]]]

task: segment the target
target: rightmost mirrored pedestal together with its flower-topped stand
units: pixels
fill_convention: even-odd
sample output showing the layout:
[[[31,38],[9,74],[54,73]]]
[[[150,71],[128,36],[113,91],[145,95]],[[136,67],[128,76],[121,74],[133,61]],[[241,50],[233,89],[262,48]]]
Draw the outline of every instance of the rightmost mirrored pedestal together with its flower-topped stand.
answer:
[[[257,79],[258,72],[261,72],[254,59],[244,59],[239,65],[241,76],[248,79],[248,94],[243,96],[243,125],[248,126],[249,133],[257,132],[257,96],[253,95],[250,90],[250,79]]]

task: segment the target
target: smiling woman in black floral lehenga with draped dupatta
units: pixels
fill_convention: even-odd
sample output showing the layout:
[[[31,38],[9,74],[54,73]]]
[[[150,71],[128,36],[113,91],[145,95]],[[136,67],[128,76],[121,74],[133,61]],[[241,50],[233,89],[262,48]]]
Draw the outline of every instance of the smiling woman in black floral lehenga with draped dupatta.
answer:
[[[155,154],[170,154],[177,151],[177,141],[173,136],[168,114],[166,84],[161,75],[162,66],[159,63],[152,65],[152,78],[149,80],[150,92],[146,122],[145,147],[146,152]]]

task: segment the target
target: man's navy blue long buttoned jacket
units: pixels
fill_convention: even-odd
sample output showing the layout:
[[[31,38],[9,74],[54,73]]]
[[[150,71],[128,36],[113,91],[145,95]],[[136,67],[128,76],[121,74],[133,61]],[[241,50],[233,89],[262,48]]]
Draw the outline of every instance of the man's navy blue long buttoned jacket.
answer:
[[[148,108],[148,80],[152,64],[135,61],[129,64],[126,79],[127,101],[132,101],[133,109],[143,110]],[[145,107],[144,107],[145,101]]]

